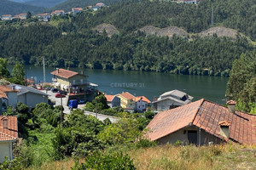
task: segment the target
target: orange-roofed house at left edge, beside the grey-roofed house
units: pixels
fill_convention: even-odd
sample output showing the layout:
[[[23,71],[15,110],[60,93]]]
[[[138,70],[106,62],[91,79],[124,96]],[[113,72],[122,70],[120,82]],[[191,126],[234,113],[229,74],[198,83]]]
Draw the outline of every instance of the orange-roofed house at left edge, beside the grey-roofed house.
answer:
[[[8,106],[16,107],[18,103],[18,90],[15,87],[0,85],[0,115],[6,111]]]

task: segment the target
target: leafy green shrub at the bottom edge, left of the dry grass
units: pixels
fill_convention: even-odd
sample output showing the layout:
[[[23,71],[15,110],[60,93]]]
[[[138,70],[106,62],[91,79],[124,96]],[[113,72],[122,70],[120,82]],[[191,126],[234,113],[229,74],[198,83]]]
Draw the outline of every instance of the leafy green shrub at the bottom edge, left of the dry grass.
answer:
[[[134,167],[131,157],[128,155],[123,155],[122,153],[111,153],[102,154],[96,153],[91,156],[87,156],[85,163],[81,165],[76,164],[73,170],[84,170],[84,169],[97,169],[97,170],[132,170],[136,169]]]

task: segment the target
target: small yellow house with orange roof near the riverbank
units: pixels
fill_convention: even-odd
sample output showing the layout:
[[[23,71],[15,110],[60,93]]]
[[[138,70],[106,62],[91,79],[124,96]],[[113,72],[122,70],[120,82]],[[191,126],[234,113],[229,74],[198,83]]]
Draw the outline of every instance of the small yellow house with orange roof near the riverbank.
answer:
[[[135,96],[129,92],[123,92],[122,94],[117,94],[117,97],[121,99],[121,107],[126,111],[133,111],[135,108]]]

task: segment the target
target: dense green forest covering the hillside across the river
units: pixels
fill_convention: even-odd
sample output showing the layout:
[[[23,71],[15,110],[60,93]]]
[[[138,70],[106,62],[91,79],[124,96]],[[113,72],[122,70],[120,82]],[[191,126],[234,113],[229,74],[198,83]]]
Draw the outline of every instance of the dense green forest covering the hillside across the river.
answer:
[[[193,33],[210,27],[213,6],[215,26],[235,28],[255,40],[255,2],[204,0],[191,5],[143,0],[54,17],[44,25],[35,20],[5,22],[0,29],[0,54],[10,64],[41,65],[45,56],[50,66],[229,76],[232,62],[252,51],[253,45],[239,35],[199,37]],[[102,23],[116,26],[119,33],[108,37],[106,32],[92,31]],[[179,26],[192,34],[155,37],[137,31],[148,25]]]

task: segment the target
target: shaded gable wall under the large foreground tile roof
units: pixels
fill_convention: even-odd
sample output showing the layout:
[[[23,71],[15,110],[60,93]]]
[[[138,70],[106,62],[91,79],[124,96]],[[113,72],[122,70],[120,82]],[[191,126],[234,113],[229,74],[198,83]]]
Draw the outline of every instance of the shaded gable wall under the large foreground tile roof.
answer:
[[[167,143],[175,144],[177,140],[180,140],[183,142],[183,144],[189,144],[189,140],[188,140],[189,130],[197,131],[197,144],[199,144],[199,127],[195,127],[195,126],[184,127],[178,130],[176,133],[172,133],[161,139],[157,139],[157,142],[159,144],[167,144]],[[214,144],[219,144],[222,142],[222,140],[218,139],[212,134],[207,133],[203,129],[201,129],[201,144],[209,144],[209,142],[213,142]]]

